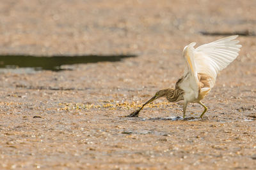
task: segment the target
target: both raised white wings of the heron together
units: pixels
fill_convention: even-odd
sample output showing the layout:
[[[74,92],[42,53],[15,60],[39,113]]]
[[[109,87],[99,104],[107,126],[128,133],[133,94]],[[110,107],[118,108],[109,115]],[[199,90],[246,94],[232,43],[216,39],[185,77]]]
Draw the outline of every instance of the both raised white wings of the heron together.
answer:
[[[236,39],[237,36],[229,36],[219,39],[205,45],[198,46],[196,49],[193,46],[196,43],[190,43],[183,50],[183,56],[186,59],[186,68],[184,78],[189,79],[186,86],[193,89],[195,97],[198,97],[198,73],[207,74],[210,88],[214,87],[218,73],[236,59],[240,51],[241,45]]]

